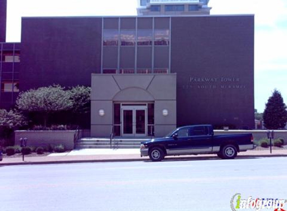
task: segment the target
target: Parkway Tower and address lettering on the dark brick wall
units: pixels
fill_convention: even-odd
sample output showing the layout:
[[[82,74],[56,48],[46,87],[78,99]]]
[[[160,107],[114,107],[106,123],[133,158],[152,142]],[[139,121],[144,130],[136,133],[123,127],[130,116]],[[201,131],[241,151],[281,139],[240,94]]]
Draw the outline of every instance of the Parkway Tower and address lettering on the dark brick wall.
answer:
[[[242,89],[246,88],[244,84],[241,83],[239,77],[195,77],[190,76],[188,78],[188,84],[183,85],[182,88],[200,88],[200,89]]]

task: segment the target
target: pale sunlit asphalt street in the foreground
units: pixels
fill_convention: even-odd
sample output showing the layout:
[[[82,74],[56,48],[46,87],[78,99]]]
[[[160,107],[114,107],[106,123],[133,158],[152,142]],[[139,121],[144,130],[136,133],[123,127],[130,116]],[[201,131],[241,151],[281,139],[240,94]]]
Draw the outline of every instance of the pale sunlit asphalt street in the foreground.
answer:
[[[287,199],[286,162],[269,157],[0,166],[0,210],[231,210],[235,193]]]

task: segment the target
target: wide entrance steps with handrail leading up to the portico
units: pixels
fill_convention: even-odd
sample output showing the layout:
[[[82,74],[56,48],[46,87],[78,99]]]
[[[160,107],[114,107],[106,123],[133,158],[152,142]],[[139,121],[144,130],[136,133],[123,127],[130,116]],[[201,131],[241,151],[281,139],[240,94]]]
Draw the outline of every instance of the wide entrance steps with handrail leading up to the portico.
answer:
[[[115,137],[112,139],[112,148],[140,148],[140,143],[150,137]],[[110,138],[84,137],[76,142],[76,149],[81,148],[110,148]]]

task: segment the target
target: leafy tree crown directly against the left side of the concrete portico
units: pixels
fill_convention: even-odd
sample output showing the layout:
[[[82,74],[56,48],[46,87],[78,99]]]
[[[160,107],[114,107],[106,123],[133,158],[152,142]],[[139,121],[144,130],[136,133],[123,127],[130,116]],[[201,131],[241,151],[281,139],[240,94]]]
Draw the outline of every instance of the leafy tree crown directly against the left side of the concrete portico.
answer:
[[[72,111],[75,113],[87,113],[91,110],[91,87],[77,85],[69,91],[72,100]]]

